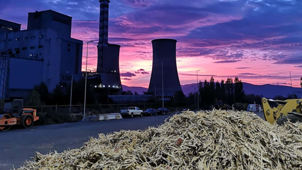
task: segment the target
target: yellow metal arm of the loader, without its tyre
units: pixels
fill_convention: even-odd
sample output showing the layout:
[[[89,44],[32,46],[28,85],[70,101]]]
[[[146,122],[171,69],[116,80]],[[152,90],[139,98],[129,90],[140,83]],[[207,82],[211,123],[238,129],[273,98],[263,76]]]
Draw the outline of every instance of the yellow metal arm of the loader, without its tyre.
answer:
[[[268,101],[277,104],[277,107],[271,107]],[[302,99],[288,99],[288,100],[271,100],[262,98],[262,108],[265,120],[273,124],[288,114],[302,116]]]

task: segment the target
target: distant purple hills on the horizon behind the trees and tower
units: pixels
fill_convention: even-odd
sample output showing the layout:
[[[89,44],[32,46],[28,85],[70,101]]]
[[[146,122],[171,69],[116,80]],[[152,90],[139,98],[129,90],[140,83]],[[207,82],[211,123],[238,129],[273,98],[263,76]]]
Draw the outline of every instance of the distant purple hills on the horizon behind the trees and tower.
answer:
[[[196,83],[182,85],[182,91],[185,95],[188,95],[191,92],[194,92],[194,87]],[[279,85],[254,85],[250,83],[243,83],[243,88],[246,94],[255,94],[255,95],[263,95],[263,97],[273,98],[274,96],[288,96],[291,93],[296,94],[299,98],[302,98],[302,88],[295,88],[289,86],[279,86]],[[143,94],[143,91],[147,91],[147,88],[144,87],[128,87],[123,85],[123,90],[131,90],[133,93],[136,91],[138,94]]]

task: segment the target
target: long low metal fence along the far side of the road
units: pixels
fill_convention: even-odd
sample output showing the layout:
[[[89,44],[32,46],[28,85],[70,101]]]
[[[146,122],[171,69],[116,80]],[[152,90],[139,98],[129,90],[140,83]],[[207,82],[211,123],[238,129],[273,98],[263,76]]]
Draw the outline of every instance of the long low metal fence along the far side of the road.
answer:
[[[144,104],[98,104],[98,105],[86,105],[85,112],[114,112],[119,111],[123,107],[139,107],[142,110],[148,109],[148,108],[155,108],[156,103],[144,103]],[[53,106],[24,106],[25,108],[32,108],[36,109],[38,113],[43,112],[56,112],[56,113],[69,113],[69,110],[71,113],[82,113],[84,111],[84,105],[72,105],[71,108],[69,105],[53,105]],[[0,107],[1,110],[3,110],[3,107]]]

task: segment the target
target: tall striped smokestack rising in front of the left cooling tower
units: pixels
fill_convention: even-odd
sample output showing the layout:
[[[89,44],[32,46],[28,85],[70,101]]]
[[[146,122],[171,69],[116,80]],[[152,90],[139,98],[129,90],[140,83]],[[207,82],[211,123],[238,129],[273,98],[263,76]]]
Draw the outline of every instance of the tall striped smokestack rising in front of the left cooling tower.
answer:
[[[100,0],[100,30],[98,39],[97,72],[103,71],[104,47],[108,47],[109,0]]]

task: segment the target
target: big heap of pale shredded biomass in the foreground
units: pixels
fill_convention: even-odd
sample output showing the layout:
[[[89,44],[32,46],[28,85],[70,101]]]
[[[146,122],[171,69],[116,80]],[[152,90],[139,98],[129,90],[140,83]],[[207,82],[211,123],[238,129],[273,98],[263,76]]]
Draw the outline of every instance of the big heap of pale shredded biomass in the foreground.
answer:
[[[18,170],[301,169],[302,125],[271,125],[249,112],[184,112],[158,128],[91,138]]]

